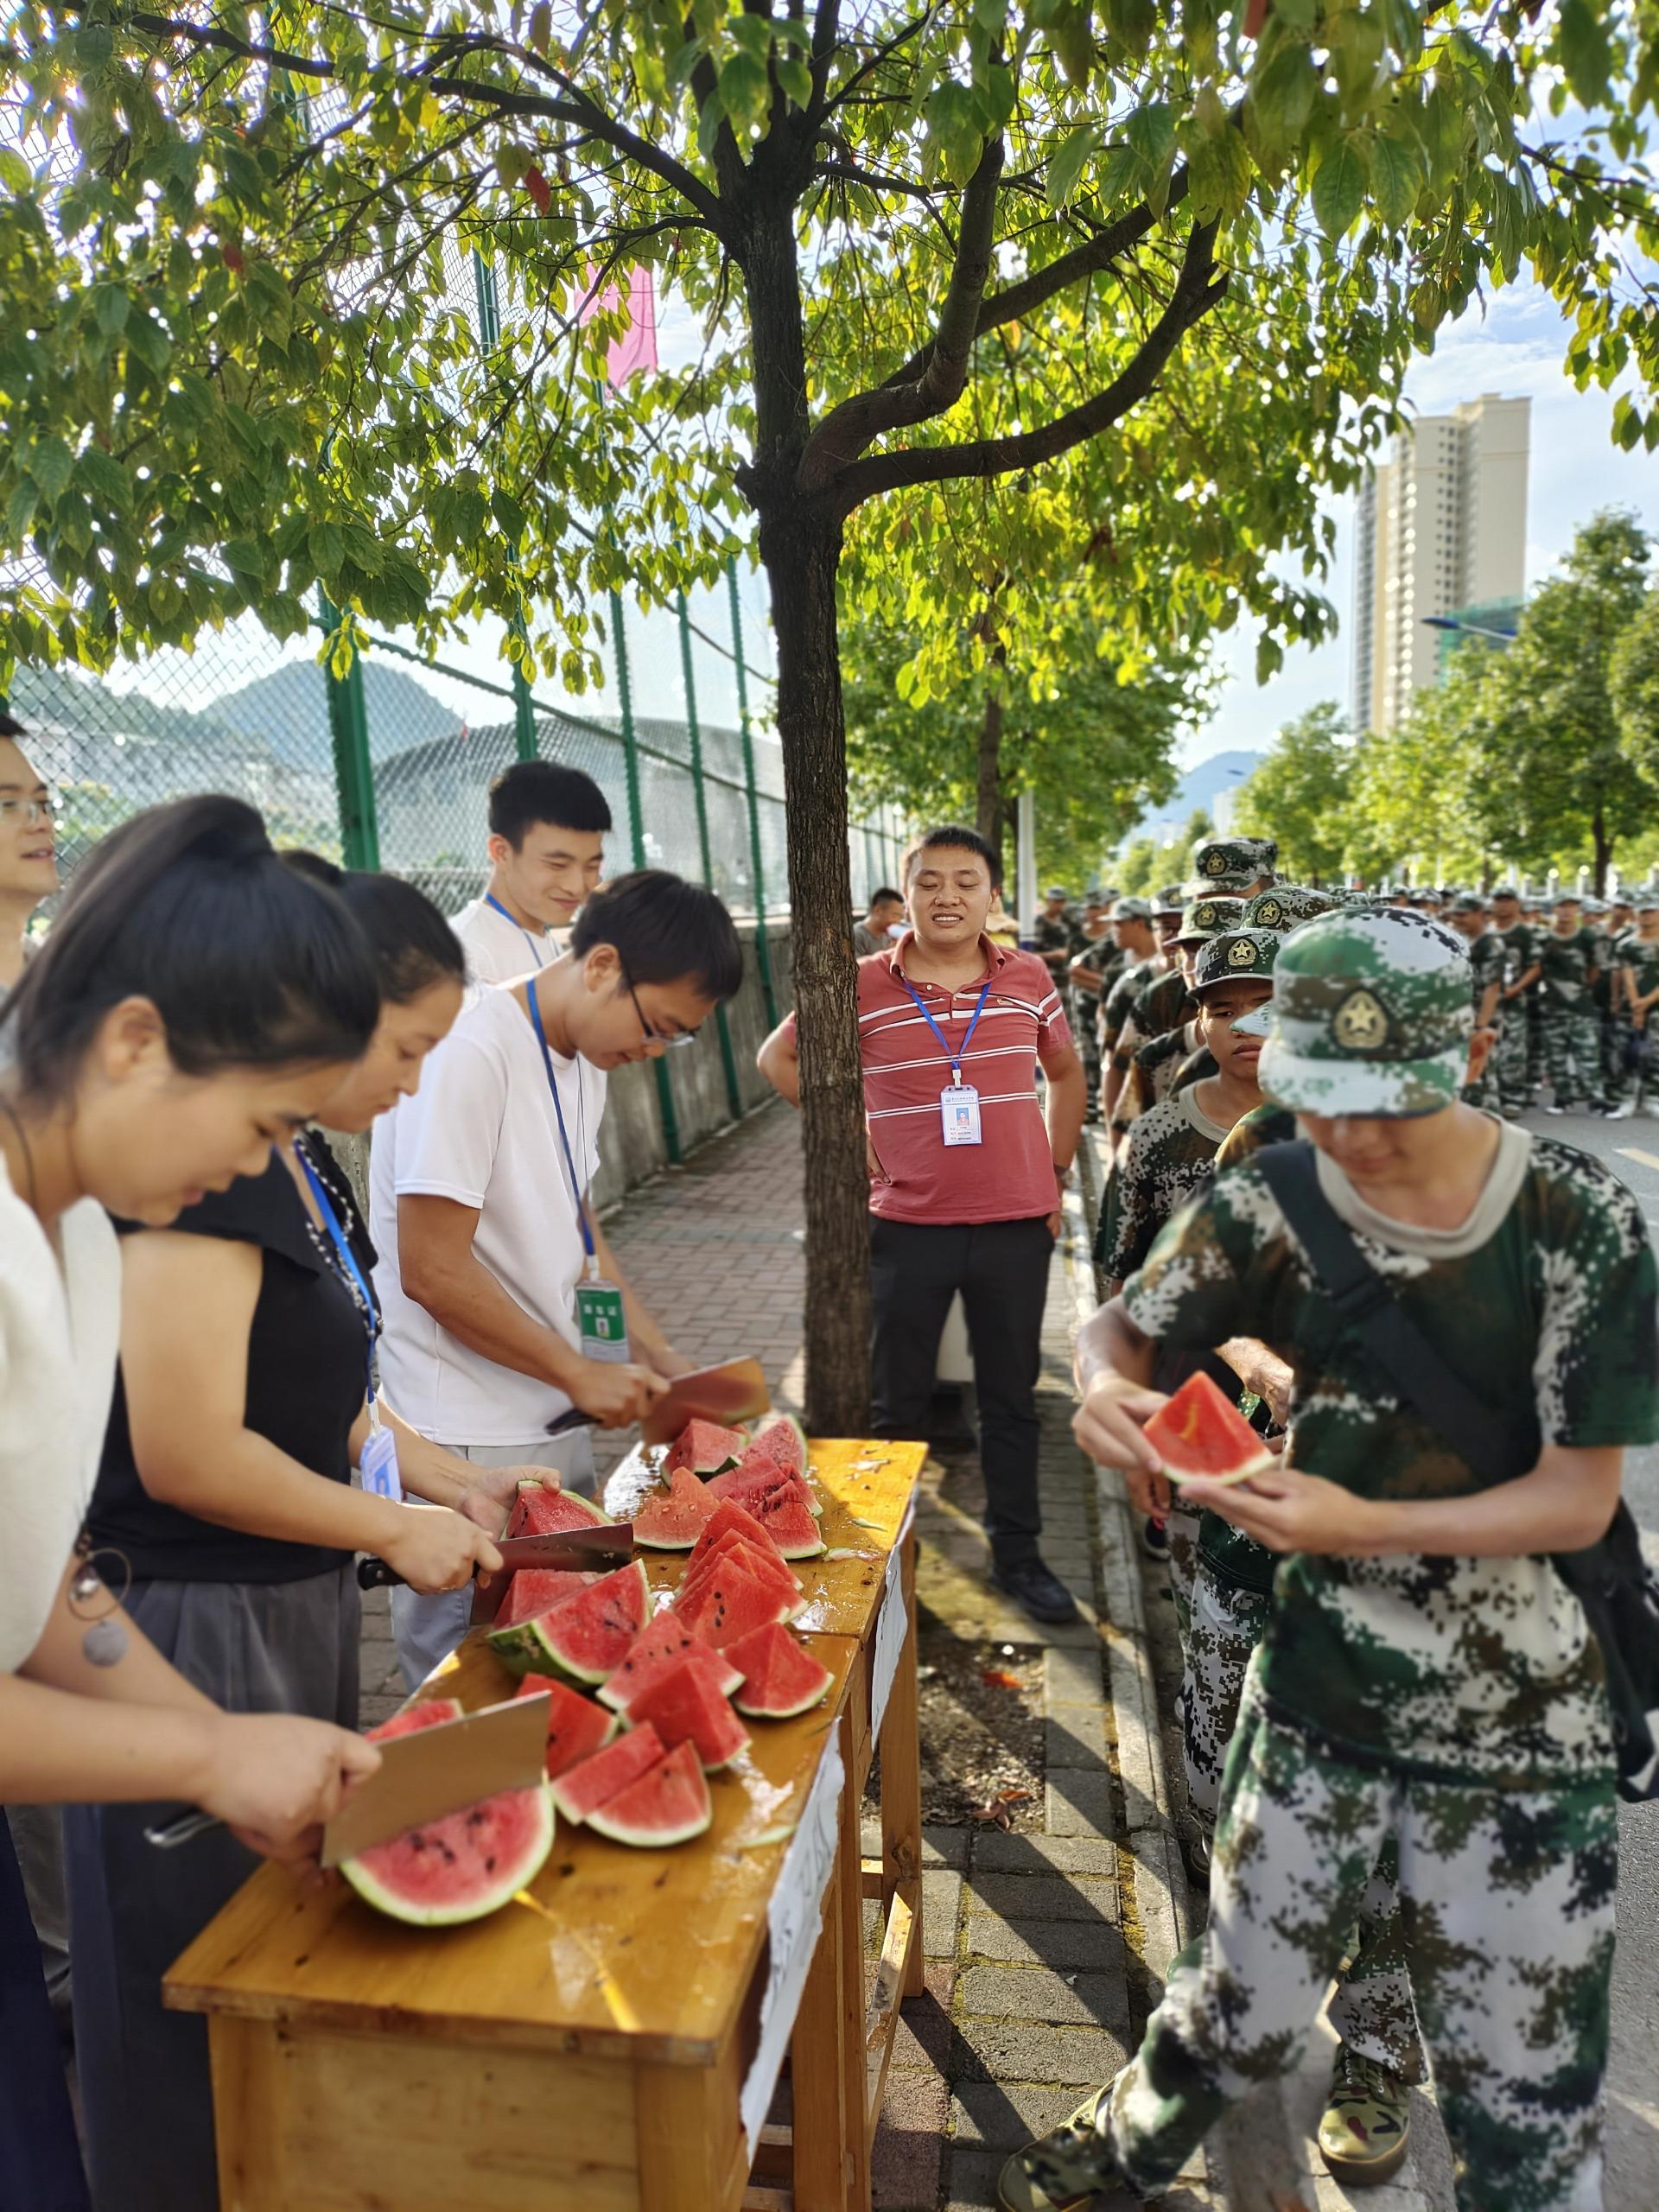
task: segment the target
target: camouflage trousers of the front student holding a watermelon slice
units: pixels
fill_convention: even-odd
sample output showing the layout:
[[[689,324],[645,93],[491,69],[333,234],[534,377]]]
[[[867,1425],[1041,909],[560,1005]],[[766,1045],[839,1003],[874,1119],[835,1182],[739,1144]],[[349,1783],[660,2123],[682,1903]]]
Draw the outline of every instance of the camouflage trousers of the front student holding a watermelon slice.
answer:
[[[1394,1843],[1460,2212],[1599,2212],[1617,1838],[1610,1778],[1418,1781],[1316,1747],[1248,1688],[1210,1924],[1102,2108],[1124,2179],[1157,2197],[1228,2106],[1298,2064]]]

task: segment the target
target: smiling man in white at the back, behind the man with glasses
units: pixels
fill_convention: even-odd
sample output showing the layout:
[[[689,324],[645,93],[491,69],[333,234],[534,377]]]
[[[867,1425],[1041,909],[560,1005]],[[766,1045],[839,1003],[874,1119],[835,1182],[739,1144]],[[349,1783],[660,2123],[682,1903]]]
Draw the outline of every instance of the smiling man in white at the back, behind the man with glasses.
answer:
[[[518,982],[564,951],[599,883],[611,807],[593,776],[557,761],[513,761],[489,787],[489,885],[453,931],[473,982]]]

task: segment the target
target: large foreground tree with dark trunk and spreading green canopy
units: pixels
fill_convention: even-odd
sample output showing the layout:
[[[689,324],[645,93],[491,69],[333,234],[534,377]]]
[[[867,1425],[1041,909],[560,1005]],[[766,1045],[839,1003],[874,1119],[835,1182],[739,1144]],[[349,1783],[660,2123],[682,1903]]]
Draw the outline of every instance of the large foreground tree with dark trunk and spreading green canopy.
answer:
[[[4,650],[104,666],[243,608],[294,633],[321,584],[341,659],[363,622],[489,608],[575,686],[595,599],[668,597],[752,540],[807,1400],[858,1433],[838,597],[960,622],[1013,533],[1048,573],[1108,560],[1126,641],[1261,615],[1272,672],[1329,619],[1274,553],[1323,573],[1321,480],[1354,482],[1411,349],[1478,292],[1526,265],[1582,380],[1652,365],[1624,274],[1646,128],[1540,122],[1646,102],[1646,35],[1613,0],[1279,0],[1254,40],[1214,0],[593,0],[557,27],[549,0],[22,0],[18,146],[53,159],[0,153]],[[478,325],[458,248],[495,281]],[[639,261],[706,345],[615,398],[619,316],[582,305]],[[1626,396],[1617,431],[1652,445],[1659,416]],[[1084,451],[1079,511],[1044,471]],[[1004,608],[1029,666],[1022,628]]]

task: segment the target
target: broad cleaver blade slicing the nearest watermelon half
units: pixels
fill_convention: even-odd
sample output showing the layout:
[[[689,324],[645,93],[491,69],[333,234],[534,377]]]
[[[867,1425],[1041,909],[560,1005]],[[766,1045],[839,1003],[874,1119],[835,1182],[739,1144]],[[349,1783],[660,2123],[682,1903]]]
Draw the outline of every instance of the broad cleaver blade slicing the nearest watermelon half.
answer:
[[[343,1858],[502,1790],[535,1787],[546,1776],[549,1703],[542,1690],[389,1736],[380,1743],[378,1772],[356,1785],[323,1829],[323,1865],[338,1867]],[[146,1827],[144,1840],[170,1851],[210,1827],[219,1827],[212,1814],[188,1812],[164,1827]]]

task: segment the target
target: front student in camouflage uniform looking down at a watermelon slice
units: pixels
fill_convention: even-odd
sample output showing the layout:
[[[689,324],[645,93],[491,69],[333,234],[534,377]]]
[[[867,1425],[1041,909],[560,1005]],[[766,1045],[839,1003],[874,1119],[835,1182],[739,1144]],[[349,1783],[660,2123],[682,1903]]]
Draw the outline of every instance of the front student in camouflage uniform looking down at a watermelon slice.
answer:
[[[1004,2212],[1126,2208],[1292,2068],[1378,1854],[1462,2212],[1599,2205],[1617,1816],[1601,1650],[1553,1553],[1608,1526],[1659,1438],[1655,1263],[1595,1159],[1458,1102],[1469,962],[1447,931],[1329,916],[1279,951],[1263,1084],[1327,1203],[1535,1462],[1467,1467],[1332,1316],[1261,1172],[1219,1177],[1077,1347],[1077,1436],[1161,1486],[1159,1343],[1259,1334],[1294,1369],[1285,1464],[1192,1495],[1281,1555],[1228,1756],[1210,1922],[1139,2055],[1002,2172]],[[1312,1469],[1318,1469],[1314,1473]],[[1502,1624],[1493,1632],[1493,1624]]]

